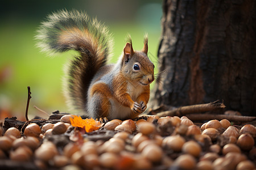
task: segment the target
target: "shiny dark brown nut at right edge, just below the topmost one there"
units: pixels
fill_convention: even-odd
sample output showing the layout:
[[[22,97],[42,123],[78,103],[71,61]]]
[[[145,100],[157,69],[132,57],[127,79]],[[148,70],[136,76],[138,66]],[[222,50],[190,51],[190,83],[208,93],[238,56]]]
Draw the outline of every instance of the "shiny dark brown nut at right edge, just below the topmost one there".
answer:
[[[254,138],[249,133],[243,133],[237,139],[237,145],[242,149],[249,151],[255,145]]]

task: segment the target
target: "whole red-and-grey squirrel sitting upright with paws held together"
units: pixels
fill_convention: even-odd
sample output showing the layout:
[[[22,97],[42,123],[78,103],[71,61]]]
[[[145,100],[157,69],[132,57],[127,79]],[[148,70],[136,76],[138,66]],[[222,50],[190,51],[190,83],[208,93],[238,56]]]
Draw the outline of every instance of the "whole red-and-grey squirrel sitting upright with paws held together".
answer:
[[[118,62],[107,64],[113,46],[108,28],[85,12],[61,10],[47,16],[36,39],[43,52],[79,54],[64,80],[69,107],[108,120],[136,118],[147,108],[155,67],[147,56],[147,35],[142,50],[134,50],[129,37]]]

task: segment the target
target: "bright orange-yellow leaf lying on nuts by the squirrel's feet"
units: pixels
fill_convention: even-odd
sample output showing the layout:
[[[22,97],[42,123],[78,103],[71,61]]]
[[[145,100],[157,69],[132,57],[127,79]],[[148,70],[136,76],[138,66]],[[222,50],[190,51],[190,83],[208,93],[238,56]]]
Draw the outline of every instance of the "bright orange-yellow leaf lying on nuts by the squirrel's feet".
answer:
[[[85,128],[86,132],[91,132],[100,128],[103,124],[95,121],[93,118],[82,119],[80,116],[70,118],[71,125],[74,127]]]

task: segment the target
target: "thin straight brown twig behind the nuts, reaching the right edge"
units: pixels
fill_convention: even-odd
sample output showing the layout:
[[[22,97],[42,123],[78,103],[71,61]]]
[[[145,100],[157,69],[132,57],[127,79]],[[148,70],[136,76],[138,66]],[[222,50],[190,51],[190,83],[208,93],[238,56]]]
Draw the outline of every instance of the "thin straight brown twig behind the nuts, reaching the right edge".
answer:
[[[204,121],[204,120],[222,120],[227,119],[234,122],[251,122],[255,121],[256,117],[252,116],[236,116],[236,115],[226,115],[226,114],[188,114],[186,115],[191,121]]]

